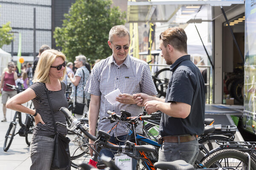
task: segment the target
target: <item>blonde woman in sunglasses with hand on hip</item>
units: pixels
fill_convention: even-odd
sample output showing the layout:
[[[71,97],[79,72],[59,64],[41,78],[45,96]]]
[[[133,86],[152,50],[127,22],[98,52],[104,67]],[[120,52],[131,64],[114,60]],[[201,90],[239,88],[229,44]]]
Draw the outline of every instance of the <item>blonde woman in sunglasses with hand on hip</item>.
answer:
[[[7,108],[29,113],[35,118],[30,144],[30,170],[50,170],[54,155],[55,130],[46,90],[51,100],[55,121],[66,124],[64,114],[59,111],[61,107],[68,106],[65,97],[66,85],[62,81],[66,75],[65,59],[65,55],[59,51],[44,51],[35,70],[34,84],[6,103]],[[22,105],[29,100],[32,100],[35,110]],[[67,134],[67,129],[59,125],[57,131],[63,135]]]

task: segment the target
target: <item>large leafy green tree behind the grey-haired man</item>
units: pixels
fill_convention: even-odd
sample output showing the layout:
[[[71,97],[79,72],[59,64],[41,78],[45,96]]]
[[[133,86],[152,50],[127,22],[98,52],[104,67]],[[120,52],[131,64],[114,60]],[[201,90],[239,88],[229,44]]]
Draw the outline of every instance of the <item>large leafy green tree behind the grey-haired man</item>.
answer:
[[[85,55],[89,62],[110,56],[108,33],[115,25],[125,24],[125,12],[111,8],[112,0],[76,0],[65,14],[62,28],[53,37],[69,61]]]

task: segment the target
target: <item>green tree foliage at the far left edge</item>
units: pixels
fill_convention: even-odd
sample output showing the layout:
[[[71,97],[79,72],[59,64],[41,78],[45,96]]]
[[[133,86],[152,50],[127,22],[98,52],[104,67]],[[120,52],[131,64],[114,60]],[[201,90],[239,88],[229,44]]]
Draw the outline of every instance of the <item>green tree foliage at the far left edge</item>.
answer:
[[[0,48],[3,45],[9,45],[13,40],[13,33],[10,33],[12,27],[10,27],[10,22],[3,24],[0,28]]]

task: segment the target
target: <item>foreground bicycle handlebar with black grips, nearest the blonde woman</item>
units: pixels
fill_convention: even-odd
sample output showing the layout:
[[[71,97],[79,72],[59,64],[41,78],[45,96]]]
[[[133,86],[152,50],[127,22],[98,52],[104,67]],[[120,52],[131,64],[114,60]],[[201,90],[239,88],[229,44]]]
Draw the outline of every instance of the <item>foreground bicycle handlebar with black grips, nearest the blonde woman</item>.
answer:
[[[96,141],[96,139],[98,139],[96,136],[91,135],[90,133],[88,133],[86,130],[84,130],[84,128],[81,125],[81,122],[76,119],[67,108],[62,107],[60,109],[60,111],[67,117],[67,119],[70,120],[71,123],[71,127],[78,127],[82,133],[84,133],[89,139]],[[101,133],[105,133],[101,130],[99,130],[99,132]],[[108,134],[108,133],[107,133]],[[127,150],[132,150],[131,145],[129,146],[120,146],[120,145],[114,145],[114,144],[110,144],[108,142],[106,142],[105,147],[109,147],[111,149],[115,149],[115,150],[121,150],[121,149],[127,149]],[[136,150],[140,150],[140,151],[147,151],[147,152],[154,152],[155,147],[152,145],[135,145],[133,146]]]

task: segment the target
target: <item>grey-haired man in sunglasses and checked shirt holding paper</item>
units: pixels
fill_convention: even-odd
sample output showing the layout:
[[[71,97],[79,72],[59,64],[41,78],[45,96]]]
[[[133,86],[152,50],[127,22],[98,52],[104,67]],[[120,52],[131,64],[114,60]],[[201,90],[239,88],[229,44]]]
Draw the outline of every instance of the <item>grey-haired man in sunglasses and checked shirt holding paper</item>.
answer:
[[[111,124],[107,119],[102,120],[108,116],[107,111],[120,115],[122,109],[131,113],[131,116],[138,116],[143,113],[143,107],[137,105],[141,98],[132,94],[141,92],[151,96],[157,95],[148,64],[128,54],[130,42],[130,34],[125,26],[111,28],[108,45],[113,54],[94,65],[85,87],[85,91],[91,94],[88,112],[89,133],[95,136],[96,122],[100,117],[98,130],[111,135],[109,142],[121,145],[126,140],[127,128],[122,125],[113,128],[114,123]],[[121,95],[116,97],[118,102],[112,105],[104,96],[116,89],[120,90]],[[142,133],[142,125],[138,125],[137,132]],[[90,153],[92,155],[92,150]],[[114,156],[109,150],[101,150],[101,153],[112,158]]]

